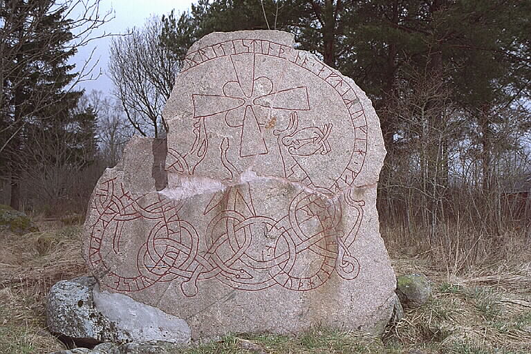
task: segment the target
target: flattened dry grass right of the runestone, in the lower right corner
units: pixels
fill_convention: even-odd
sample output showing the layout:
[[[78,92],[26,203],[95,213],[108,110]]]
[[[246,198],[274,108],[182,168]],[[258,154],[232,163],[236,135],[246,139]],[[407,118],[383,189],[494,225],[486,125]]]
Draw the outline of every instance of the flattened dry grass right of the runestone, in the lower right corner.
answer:
[[[393,259],[397,274],[427,274],[434,294],[387,328],[386,346],[440,354],[531,353],[531,252],[520,241],[466,267],[456,261],[460,257],[437,260],[440,250]],[[396,248],[394,256],[400,256]]]

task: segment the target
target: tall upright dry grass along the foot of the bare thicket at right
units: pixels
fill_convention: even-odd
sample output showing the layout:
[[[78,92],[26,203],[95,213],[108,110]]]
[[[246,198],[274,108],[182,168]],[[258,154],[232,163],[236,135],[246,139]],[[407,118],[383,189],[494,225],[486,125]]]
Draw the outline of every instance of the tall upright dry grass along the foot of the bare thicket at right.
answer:
[[[413,259],[413,266],[422,266],[436,273],[469,277],[476,272],[492,274],[531,270],[531,233],[528,230],[506,230],[492,235],[478,232],[475,227],[439,225],[435,234],[430,230],[404,230],[400,225],[382,227],[392,259]]]

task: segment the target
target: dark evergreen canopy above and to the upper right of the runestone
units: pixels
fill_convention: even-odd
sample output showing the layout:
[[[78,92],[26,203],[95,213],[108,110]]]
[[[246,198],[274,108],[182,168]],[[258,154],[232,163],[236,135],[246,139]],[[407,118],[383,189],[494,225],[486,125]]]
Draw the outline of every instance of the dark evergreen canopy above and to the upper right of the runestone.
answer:
[[[514,0],[201,0],[179,19],[166,17],[162,38],[183,57],[209,32],[274,24],[353,77],[378,110],[408,66],[446,71],[454,98],[481,106],[478,97],[492,101],[503,87],[529,93],[530,16],[531,3]],[[398,126],[386,117],[382,125],[392,145]]]

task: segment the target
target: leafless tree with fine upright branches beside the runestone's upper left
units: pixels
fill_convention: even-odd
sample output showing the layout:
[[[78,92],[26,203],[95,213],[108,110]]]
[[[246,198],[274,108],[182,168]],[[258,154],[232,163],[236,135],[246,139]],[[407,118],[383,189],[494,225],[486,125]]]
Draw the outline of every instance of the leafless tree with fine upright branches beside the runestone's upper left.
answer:
[[[142,136],[156,138],[168,129],[162,108],[179,69],[170,50],[162,46],[162,27],[161,19],[150,17],[144,27],[113,39],[109,63],[114,95],[127,119]]]

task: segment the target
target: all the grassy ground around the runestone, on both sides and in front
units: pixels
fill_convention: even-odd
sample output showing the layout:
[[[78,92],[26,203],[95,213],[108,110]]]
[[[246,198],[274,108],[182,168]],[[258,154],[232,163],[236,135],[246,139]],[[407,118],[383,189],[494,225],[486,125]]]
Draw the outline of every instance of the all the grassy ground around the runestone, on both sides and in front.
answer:
[[[39,223],[42,232],[0,234],[0,353],[50,353],[64,348],[46,331],[46,292],[61,279],[86,274],[81,225]],[[433,281],[425,306],[406,310],[382,339],[315,328],[300,337],[229,336],[179,353],[531,353],[531,250],[518,257],[464,263],[411,255],[388,243],[397,274],[422,272]],[[406,255],[409,254],[409,255]],[[417,350],[417,351],[415,351]]]

